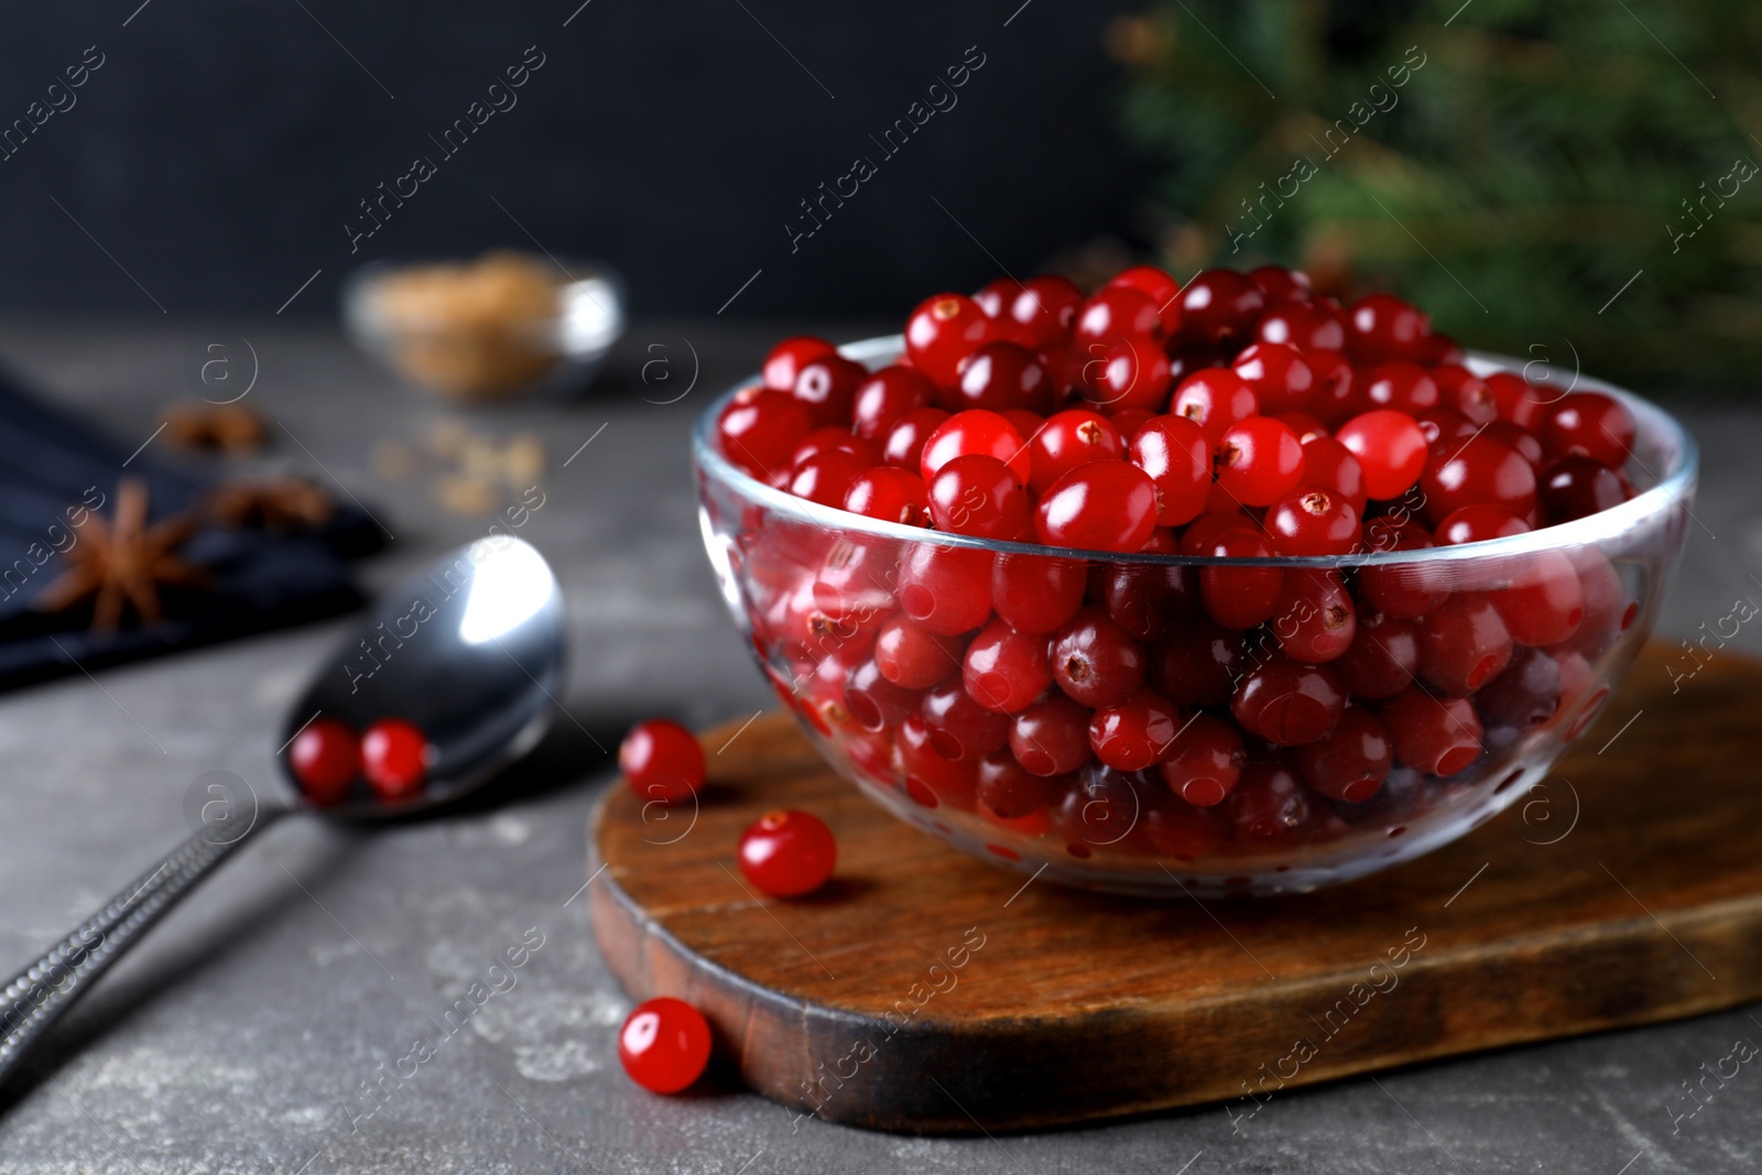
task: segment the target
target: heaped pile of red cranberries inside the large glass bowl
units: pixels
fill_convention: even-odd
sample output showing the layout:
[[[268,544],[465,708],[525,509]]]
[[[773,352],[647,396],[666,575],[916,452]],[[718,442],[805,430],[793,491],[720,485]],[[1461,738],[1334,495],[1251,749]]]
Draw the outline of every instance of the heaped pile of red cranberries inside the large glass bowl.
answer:
[[[722,454],[853,514],[1115,557],[1413,551],[1635,493],[1616,398],[1477,375],[1406,301],[1341,307],[1288,270],[1138,266],[1089,298],[1003,278],[925,299],[904,338],[876,372],[781,342]],[[742,544],[761,661],[811,724],[923,807],[1080,858],[1422,810],[1581,698],[1637,613],[1595,546],[1297,569],[782,525]]]

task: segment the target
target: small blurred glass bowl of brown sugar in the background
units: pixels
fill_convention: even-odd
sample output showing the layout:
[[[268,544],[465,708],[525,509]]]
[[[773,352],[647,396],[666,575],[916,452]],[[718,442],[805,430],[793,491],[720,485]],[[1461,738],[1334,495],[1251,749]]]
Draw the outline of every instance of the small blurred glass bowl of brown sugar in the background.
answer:
[[[576,395],[626,319],[610,270],[518,252],[375,261],[344,284],[342,317],[409,384],[460,402]]]

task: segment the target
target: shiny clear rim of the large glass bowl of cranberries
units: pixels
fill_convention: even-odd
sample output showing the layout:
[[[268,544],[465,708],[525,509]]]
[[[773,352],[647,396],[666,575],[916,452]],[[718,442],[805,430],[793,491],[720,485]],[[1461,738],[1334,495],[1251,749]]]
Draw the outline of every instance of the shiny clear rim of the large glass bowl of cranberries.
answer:
[[[870,359],[886,359],[899,354],[904,349],[902,335],[883,335],[877,338],[863,338],[858,342],[844,344],[839,347],[839,354],[858,363],[869,363]],[[1145,564],[1145,565],[1173,565],[1173,567],[1205,567],[1212,564],[1228,564],[1232,567],[1313,567],[1313,569],[1337,569],[1337,567],[1374,567],[1388,564],[1454,564],[1454,562],[1473,562],[1487,557],[1503,555],[1524,555],[1533,551],[1561,550],[1568,546],[1593,546],[1598,543],[1607,543],[1618,539],[1630,530],[1635,530],[1644,521],[1665,514],[1672,502],[1686,502],[1693,495],[1695,477],[1700,469],[1700,447],[1695,439],[1683,428],[1681,423],[1653,402],[1626,391],[1625,388],[1616,388],[1605,381],[1591,379],[1588,375],[1577,375],[1573,372],[1547,365],[1547,363],[1526,363],[1522,359],[1514,359],[1499,354],[1487,352],[1470,352],[1470,366],[1477,373],[1485,373],[1491,370],[1508,370],[1508,372],[1526,372],[1529,368],[1542,368],[1551,373],[1551,377],[1561,382],[1572,381],[1572,391],[1600,391],[1603,395],[1621,400],[1623,405],[1633,414],[1635,423],[1635,449],[1646,440],[1656,442],[1665,451],[1676,454],[1676,469],[1670,469],[1656,486],[1637,493],[1633,499],[1623,502],[1614,509],[1602,511],[1598,514],[1589,514],[1586,518],[1575,518],[1573,521],[1559,523],[1554,527],[1542,527],[1540,530],[1529,530],[1526,534],[1515,534],[1505,539],[1487,539],[1482,543],[1461,543],[1457,546],[1431,546],[1417,551],[1367,551],[1359,555],[1281,555],[1270,558],[1226,558],[1226,557],[1200,557],[1200,555],[1159,555],[1159,553],[1126,553],[1126,551],[1084,551],[1073,548],[1059,546],[1041,546],[1038,543],[1004,543],[999,539],[974,539],[964,534],[948,534],[944,530],[925,530],[923,527],[907,527],[897,521],[883,521],[879,518],[867,518],[863,514],[853,514],[844,509],[835,509],[832,506],[821,506],[818,502],[809,502],[807,499],[798,499],[786,490],[774,490],[763,481],[745,474],[737,469],[728,458],[724,458],[715,446],[715,421],[721,418],[722,409],[728,402],[745,388],[758,382],[758,373],[749,375],[737,382],[733,388],[719,395],[700,416],[692,428],[692,462],[708,477],[729,484],[742,497],[763,504],[765,507],[775,511],[779,516],[800,523],[814,523],[819,527],[830,527],[846,532],[869,534],[877,539],[897,539],[900,543],[932,543],[936,546],[966,546],[985,551],[1006,553],[1006,555],[1040,555],[1043,558],[1084,558],[1084,560],[1101,560],[1115,564]]]

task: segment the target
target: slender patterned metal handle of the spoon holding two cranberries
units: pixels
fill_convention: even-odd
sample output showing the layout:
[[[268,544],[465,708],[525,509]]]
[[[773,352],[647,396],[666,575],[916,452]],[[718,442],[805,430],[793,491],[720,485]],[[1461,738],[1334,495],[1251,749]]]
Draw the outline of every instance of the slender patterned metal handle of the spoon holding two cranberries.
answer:
[[[180,844],[159,868],[136,879],[78,930],[51,946],[0,990],[0,1082],[18,1068],[42,1032],[134,946],[196,883],[233,854],[250,833],[275,823],[287,809],[264,807],[233,840],[199,831]]]

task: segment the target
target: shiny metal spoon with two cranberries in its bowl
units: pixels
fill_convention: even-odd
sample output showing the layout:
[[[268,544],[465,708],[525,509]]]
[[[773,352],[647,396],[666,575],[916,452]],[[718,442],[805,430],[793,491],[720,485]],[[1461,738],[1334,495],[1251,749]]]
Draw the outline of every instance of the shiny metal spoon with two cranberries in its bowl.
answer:
[[[405,719],[432,745],[423,793],[388,805],[356,784],[344,803],[317,809],[287,779],[278,800],[259,805],[236,775],[199,779],[185,802],[196,835],[0,992],[0,1080],[69,1004],[254,831],[291,812],[402,819],[476,791],[543,738],[562,669],[562,592],[544,557],[520,539],[462,546],[384,595],[307,687],[282,740],[285,749],[319,713],[356,731],[379,719]]]

